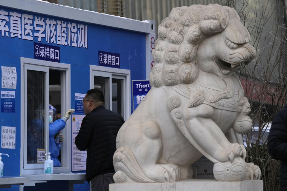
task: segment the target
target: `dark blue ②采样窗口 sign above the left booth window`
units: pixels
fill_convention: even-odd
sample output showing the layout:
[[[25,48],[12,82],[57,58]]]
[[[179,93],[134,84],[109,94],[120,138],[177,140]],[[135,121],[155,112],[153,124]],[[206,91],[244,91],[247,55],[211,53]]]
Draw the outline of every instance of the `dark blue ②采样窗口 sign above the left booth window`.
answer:
[[[34,58],[60,62],[60,47],[34,42]]]

